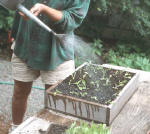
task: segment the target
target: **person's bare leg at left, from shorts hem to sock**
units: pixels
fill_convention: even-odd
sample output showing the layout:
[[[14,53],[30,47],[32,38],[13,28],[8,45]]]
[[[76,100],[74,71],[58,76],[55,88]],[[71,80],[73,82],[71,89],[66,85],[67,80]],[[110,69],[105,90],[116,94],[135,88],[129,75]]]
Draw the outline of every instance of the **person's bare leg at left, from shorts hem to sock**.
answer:
[[[14,92],[12,97],[12,121],[13,124],[22,123],[27,107],[27,99],[31,92],[33,82],[21,82],[14,80]]]

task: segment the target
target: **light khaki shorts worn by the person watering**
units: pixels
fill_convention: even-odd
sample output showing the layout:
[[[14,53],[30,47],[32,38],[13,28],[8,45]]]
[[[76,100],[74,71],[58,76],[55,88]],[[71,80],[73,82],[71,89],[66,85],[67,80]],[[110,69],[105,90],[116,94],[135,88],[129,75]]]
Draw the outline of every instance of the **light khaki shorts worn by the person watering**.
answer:
[[[44,84],[54,85],[59,81],[64,80],[75,71],[73,60],[65,61],[64,63],[60,64],[54,71],[34,70],[27,66],[27,64],[18,58],[15,54],[13,54],[11,62],[13,79],[22,82],[31,82],[40,76]]]

